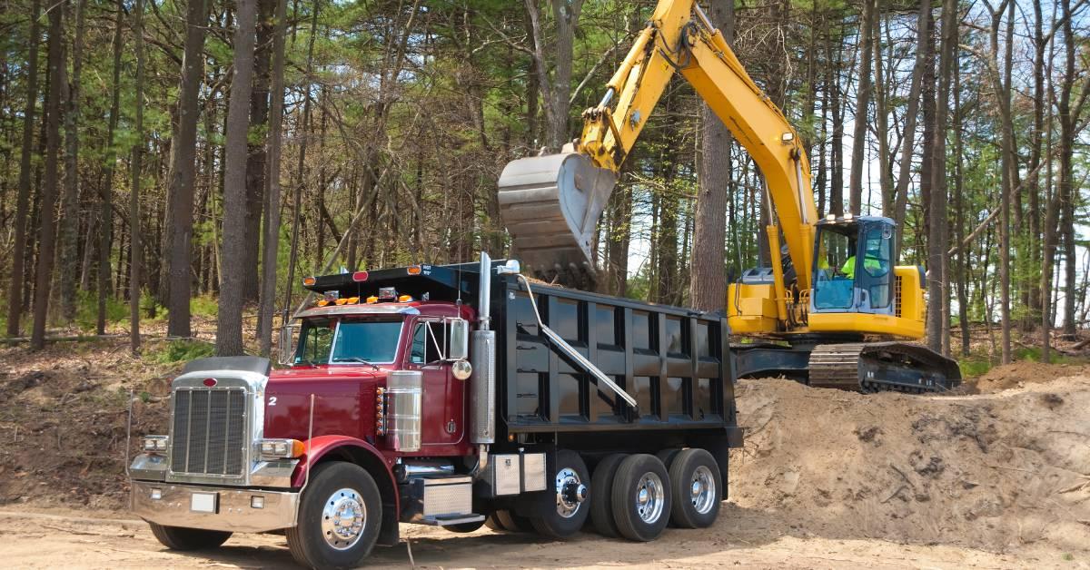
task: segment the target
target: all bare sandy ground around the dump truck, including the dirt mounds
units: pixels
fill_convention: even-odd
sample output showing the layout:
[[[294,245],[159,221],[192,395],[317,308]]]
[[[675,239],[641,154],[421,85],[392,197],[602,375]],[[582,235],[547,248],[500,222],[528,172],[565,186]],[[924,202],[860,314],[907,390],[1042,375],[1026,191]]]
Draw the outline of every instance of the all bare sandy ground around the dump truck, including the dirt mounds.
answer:
[[[120,344],[0,348],[0,567],[294,568],[284,538],[172,553],[124,511],[125,411],[161,432],[178,365]],[[123,348],[123,347],[122,347]],[[133,396],[130,397],[129,395]],[[633,544],[403,525],[431,568],[1090,569],[1090,366],[1020,363],[955,395],[742,380],[718,522]],[[368,568],[411,566],[376,548]]]

